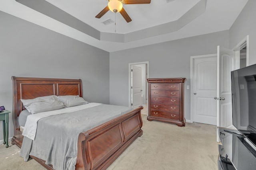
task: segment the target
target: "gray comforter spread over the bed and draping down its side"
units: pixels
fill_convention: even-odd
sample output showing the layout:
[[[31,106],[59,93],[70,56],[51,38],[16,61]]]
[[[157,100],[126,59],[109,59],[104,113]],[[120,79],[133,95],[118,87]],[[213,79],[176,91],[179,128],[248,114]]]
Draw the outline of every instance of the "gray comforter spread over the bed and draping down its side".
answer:
[[[20,156],[46,160],[56,170],[74,170],[78,135],[132,110],[129,107],[101,104],[72,113],[52,115],[38,121],[35,140],[24,137]]]

